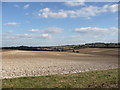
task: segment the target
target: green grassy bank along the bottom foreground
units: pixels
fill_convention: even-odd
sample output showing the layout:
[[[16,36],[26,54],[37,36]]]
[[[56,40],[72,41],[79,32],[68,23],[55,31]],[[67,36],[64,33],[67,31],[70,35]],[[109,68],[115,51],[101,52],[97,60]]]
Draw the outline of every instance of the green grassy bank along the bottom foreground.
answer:
[[[118,70],[3,79],[3,88],[116,88]]]

